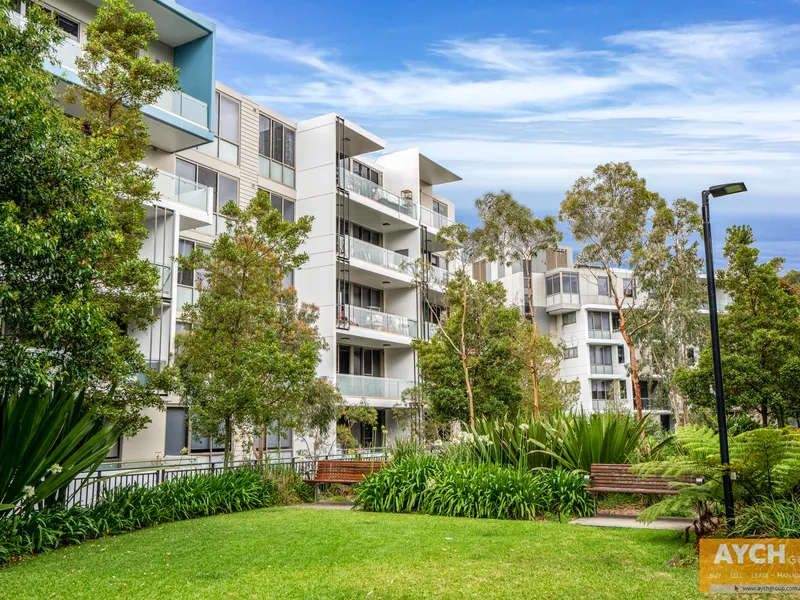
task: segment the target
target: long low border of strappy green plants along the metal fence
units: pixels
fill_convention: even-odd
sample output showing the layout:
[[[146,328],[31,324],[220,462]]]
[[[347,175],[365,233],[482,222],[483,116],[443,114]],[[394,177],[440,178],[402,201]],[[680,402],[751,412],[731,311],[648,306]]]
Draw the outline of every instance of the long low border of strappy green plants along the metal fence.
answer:
[[[155,487],[139,485],[107,491],[91,508],[50,507],[0,519],[0,564],[65,544],[151,527],[159,523],[274,506],[287,492],[300,491],[297,476],[264,477],[257,469],[198,474],[169,479]],[[308,488],[306,484],[302,484]]]

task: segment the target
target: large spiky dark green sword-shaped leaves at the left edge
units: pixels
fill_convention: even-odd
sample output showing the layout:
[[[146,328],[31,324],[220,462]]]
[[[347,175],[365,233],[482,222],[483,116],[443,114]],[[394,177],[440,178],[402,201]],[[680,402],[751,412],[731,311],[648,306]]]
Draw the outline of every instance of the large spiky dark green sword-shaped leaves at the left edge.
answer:
[[[119,439],[97,406],[70,383],[0,393],[0,513],[51,499],[93,472]]]

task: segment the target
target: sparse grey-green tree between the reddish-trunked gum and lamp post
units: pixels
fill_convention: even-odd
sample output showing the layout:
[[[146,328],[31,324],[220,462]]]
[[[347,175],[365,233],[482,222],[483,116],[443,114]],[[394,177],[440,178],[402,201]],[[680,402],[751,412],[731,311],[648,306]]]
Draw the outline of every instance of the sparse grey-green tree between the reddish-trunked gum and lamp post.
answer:
[[[665,219],[668,243],[663,255],[653,255],[644,265],[639,282],[647,297],[639,307],[647,318],[661,309],[661,315],[641,330],[636,346],[643,371],[655,376],[658,386],[653,395],[668,399],[676,424],[689,422],[689,406],[681,395],[675,375],[680,368],[693,366],[708,331],[708,319],[701,313],[707,302],[707,289],[698,279],[703,261],[698,256],[701,228],[698,206],[685,198],[675,201],[672,215]],[[694,238],[694,239],[693,239]],[[663,307],[663,308],[662,308]]]

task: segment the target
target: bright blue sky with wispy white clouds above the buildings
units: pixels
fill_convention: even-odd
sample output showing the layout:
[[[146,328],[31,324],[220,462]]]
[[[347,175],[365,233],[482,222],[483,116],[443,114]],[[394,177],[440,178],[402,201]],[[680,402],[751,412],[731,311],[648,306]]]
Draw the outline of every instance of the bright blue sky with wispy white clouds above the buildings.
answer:
[[[536,214],[600,163],[668,200],[744,180],[750,223],[800,268],[800,0],[347,3],[180,0],[217,23],[217,78],[300,120],[338,112]]]

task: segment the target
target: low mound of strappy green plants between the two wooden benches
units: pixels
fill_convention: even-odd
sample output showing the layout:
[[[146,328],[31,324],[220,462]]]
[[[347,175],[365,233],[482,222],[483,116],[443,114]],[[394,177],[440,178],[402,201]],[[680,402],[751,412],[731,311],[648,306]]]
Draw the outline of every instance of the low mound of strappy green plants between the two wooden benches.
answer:
[[[562,470],[529,473],[496,463],[417,454],[393,461],[356,488],[375,512],[424,512],[489,519],[588,514],[583,478]]]

